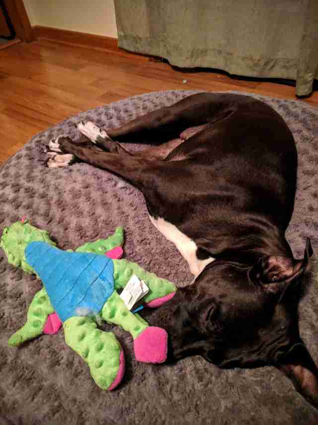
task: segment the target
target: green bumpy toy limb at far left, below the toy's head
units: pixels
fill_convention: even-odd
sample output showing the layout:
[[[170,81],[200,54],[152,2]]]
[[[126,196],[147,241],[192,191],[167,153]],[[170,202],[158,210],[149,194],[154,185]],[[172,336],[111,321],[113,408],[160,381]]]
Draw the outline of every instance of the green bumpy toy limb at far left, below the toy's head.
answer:
[[[13,347],[41,335],[48,315],[53,312],[46,290],[42,288],[33,297],[25,325],[9,338],[8,344]]]

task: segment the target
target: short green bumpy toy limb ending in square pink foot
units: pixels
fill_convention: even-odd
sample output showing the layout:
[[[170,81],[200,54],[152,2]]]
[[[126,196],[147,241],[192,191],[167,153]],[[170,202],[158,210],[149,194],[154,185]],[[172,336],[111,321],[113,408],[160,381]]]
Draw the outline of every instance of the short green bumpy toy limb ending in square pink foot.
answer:
[[[141,316],[128,310],[117,291],[110,295],[102,308],[102,317],[107,323],[114,323],[128,331],[136,339],[149,324]]]

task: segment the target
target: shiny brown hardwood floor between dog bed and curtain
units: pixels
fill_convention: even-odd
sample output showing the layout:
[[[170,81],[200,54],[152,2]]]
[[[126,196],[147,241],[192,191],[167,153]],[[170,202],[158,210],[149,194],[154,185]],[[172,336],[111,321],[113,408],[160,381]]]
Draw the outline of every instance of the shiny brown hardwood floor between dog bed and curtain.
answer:
[[[20,43],[0,50],[0,164],[36,133],[80,111],[171,89],[238,90],[295,99],[291,86],[175,70],[119,49],[91,50],[47,39]],[[318,106],[318,92],[301,102]]]

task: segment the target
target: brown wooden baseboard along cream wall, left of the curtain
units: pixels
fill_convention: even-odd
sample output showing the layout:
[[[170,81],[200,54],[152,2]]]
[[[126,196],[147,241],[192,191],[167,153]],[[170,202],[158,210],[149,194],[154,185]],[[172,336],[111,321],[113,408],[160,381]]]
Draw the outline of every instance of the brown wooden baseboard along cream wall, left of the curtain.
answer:
[[[33,30],[36,38],[54,40],[57,43],[72,44],[98,50],[119,50],[118,40],[114,37],[88,34],[85,32],[70,31],[67,29],[51,28],[35,25]]]

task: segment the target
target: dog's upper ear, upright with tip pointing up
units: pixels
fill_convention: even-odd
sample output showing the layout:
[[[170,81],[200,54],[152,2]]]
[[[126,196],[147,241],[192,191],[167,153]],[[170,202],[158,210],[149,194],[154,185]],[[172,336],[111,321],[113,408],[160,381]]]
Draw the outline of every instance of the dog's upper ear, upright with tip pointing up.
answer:
[[[281,299],[291,283],[299,282],[309,269],[312,255],[312,245],[307,239],[303,260],[280,255],[265,256],[252,267],[249,277],[254,283],[261,284],[266,292],[279,293]]]

